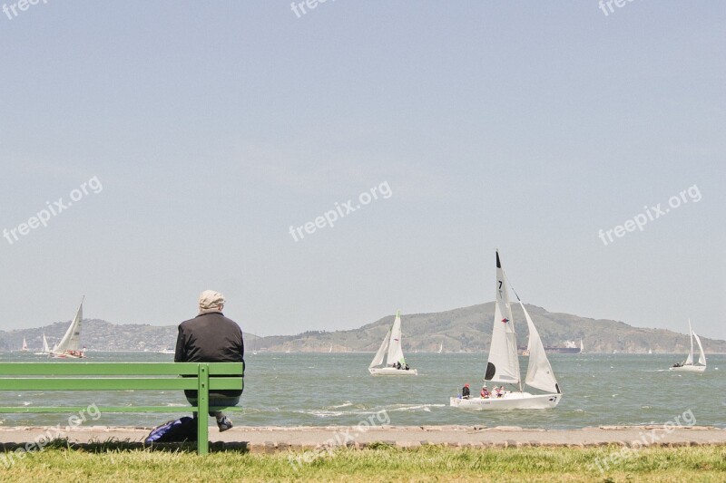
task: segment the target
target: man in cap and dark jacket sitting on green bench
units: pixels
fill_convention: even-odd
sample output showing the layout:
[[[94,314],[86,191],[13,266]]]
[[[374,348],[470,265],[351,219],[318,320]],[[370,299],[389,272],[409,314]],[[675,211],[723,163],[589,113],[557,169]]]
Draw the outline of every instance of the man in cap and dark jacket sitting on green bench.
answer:
[[[179,324],[174,362],[244,362],[244,341],[240,326],[221,313],[224,295],[205,290],[199,297],[199,315]],[[240,374],[241,375],[241,374]],[[197,391],[184,391],[197,405]],[[210,391],[210,406],[236,406],[242,391]],[[232,421],[221,411],[210,411],[220,431],[229,430]]]

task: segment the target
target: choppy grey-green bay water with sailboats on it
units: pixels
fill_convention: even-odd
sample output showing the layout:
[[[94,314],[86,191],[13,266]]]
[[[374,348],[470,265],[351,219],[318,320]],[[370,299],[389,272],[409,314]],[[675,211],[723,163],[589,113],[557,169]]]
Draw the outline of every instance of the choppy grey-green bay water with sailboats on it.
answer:
[[[89,353],[88,362],[171,362],[172,355]],[[552,354],[564,399],[548,411],[462,411],[448,398],[465,383],[478,394],[486,366],[482,353],[412,353],[417,377],[372,377],[370,353],[260,353],[246,357],[238,425],[355,425],[388,411],[391,424],[514,425],[552,429],[614,424],[662,424],[691,410],[697,424],[726,427],[726,355],[709,356],[701,374],[663,371],[683,354]],[[523,359],[523,374],[526,358]],[[44,362],[28,353],[2,353],[0,362]],[[58,362],[74,363],[74,362]],[[716,368],[719,368],[718,370]],[[1,385],[0,385],[1,386]],[[59,402],[63,401],[63,402]],[[42,406],[187,405],[180,392],[0,391],[0,404]],[[150,426],[173,414],[103,414],[93,424]],[[0,425],[65,424],[67,415],[2,415]]]

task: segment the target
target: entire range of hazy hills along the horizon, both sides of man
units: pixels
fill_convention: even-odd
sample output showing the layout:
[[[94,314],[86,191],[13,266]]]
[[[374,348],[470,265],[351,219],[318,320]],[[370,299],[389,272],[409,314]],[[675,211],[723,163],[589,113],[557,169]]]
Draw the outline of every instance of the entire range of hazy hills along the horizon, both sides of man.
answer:
[[[688,335],[664,329],[642,329],[623,322],[594,320],[572,314],[550,313],[536,305],[526,305],[545,346],[561,347],[568,341],[579,344],[583,339],[586,353],[687,353]],[[513,305],[515,321],[523,321],[524,314]],[[440,343],[444,352],[486,352],[491,341],[494,302],[472,305],[436,314],[403,314],[404,350],[406,353],[435,352]],[[23,329],[0,331],[0,350],[18,350],[27,340],[31,350],[40,349],[45,333],[49,343],[59,341],[67,322]],[[359,329],[348,331],[309,331],[298,335],[255,337],[245,333],[247,351],[254,347],[270,352],[375,352],[393,315]],[[516,324],[517,342],[526,345],[526,324]],[[176,343],[176,325],[111,324],[98,319],[83,320],[82,340],[96,351],[157,351],[173,348]],[[726,353],[726,341],[701,337],[707,353]]]

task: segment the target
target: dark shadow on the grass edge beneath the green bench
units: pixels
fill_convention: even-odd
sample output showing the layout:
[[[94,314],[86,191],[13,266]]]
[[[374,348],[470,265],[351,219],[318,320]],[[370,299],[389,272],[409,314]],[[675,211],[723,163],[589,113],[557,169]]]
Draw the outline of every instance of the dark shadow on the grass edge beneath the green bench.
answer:
[[[27,443],[0,443],[0,452],[14,452],[17,449],[26,449]],[[43,449],[75,449],[79,451],[89,453],[108,453],[117,451],[132,451],[132,450],[147,450],[147,451],[161,451],[161,452],[172,452],[172,453],[194,453],[197,452],[197,441],[183,441],[173,443],[150,443],[145,444],[139,441],[132,440],[119,440],[117,438],[109,438],[108,440],[90,440],[86,443],[75,443],[70,442],[67,438],[56,438],[50,440],[44,444]],[[238,453],[247,453],[250,451],[248,443],[246,441],[235,441],[235,442],[210,442],[210,453],[212,452],[224,452],[224,451],[235,451]],[[35,451],[37,452],[37,446]]]

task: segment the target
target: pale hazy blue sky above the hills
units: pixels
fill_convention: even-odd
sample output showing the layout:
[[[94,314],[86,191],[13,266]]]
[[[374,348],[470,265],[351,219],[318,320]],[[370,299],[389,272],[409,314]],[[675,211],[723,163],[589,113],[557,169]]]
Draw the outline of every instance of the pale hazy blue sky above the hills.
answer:
[[[726,338],[726,4],[297,4],[5,4],[0,329],[356,328],[494,300],[498,248]]]

